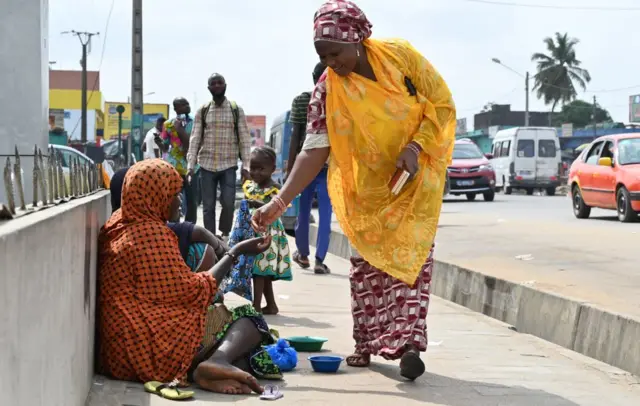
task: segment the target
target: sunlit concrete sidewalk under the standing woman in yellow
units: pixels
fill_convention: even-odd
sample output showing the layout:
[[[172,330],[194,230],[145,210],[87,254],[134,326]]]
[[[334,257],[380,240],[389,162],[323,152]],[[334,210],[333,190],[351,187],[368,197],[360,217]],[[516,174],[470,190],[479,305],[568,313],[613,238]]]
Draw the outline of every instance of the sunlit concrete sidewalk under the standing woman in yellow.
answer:
[[[291,241],[292,244],[293,241]],[[293,247],[295,245],[292,245]],[[317,276],[296,269],[293,282],[275,285],[281,314],[268,317],[281,336],[329,338],[327,354],[353,350],[347,261],[329,256],[333,273]],[[229,295],[230,302],[238,302]],[[238,302],[240,303],[240,302]],[[369,369],[344,363],[337,375],[312,372],[299,354],[296,370],[280,383],[281,405],[445,406],[629,406],[640,404],[640,383],[631,374],[594,361],[499,321],[433,298],[429,314],[427,373],[404,382],[397,363],[374,359]],[[190,404],[258,405],[257,396],[198,391]],[[605,400],[606,399],[606,400]],[[145,394],[140,384],[96,378],[87,406],[161,406],[175,403]]]

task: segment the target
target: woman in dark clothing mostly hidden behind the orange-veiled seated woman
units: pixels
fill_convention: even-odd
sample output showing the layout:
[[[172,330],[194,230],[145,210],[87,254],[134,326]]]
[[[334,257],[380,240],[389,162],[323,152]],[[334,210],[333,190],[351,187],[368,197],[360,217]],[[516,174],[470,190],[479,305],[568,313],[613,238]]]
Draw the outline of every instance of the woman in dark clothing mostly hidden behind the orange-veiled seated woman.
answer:
[[[122,186],[128,170],[129,168],[120,169],[111,178],[112,213],[115,213],[122,205]],[[181,195],[180,198],[182,198]],[[180,254],[193,272],[211,269],[218,258],[229,251],[229,247],[206,228],[186,221],[180,222],[180,206],[175,208],[167,226],[178,237]]]

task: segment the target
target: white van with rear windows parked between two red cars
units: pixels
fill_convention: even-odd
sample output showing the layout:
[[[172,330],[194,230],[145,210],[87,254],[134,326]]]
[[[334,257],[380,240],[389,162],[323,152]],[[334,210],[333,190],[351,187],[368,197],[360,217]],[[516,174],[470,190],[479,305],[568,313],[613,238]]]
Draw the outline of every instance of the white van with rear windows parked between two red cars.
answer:
[[[532,195],[544,189],[553,196],[560,185],[562,160],[555,128],[516,127],[498,131],[493,138],[496,189],[511,194],[524,189]]]

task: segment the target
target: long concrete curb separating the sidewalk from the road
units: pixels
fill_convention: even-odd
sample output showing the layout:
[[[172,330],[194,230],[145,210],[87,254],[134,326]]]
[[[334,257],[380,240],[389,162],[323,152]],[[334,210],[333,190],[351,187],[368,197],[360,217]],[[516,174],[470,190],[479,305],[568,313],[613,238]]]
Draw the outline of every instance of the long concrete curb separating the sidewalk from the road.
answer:
[[[311,225],[309,240],[314,246],[316,236],[317,226]],[[343,233],[331,231],[329,253],[349,259],[349,241]],[[431,293],[520,333],[640,375],[640,321],[628,316],[438,260]]]

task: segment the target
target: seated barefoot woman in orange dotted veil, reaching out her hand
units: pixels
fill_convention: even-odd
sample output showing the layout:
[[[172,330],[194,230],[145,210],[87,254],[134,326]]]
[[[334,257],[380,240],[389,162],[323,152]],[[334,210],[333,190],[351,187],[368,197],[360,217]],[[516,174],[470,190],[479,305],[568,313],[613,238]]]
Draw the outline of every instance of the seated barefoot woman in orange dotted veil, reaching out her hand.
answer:
[[[210,304],[237,258],[263,252],[270,238],[242,242],[212,269],[192,272],[166,225],[181,188],[168,163],[135,164],[125,176],[121,209],[100,231],[100,370],[122,380],[261,393],[256,377],[282,377],[262,350],[274,342],[264,319],[251,306],[229,311]]]

